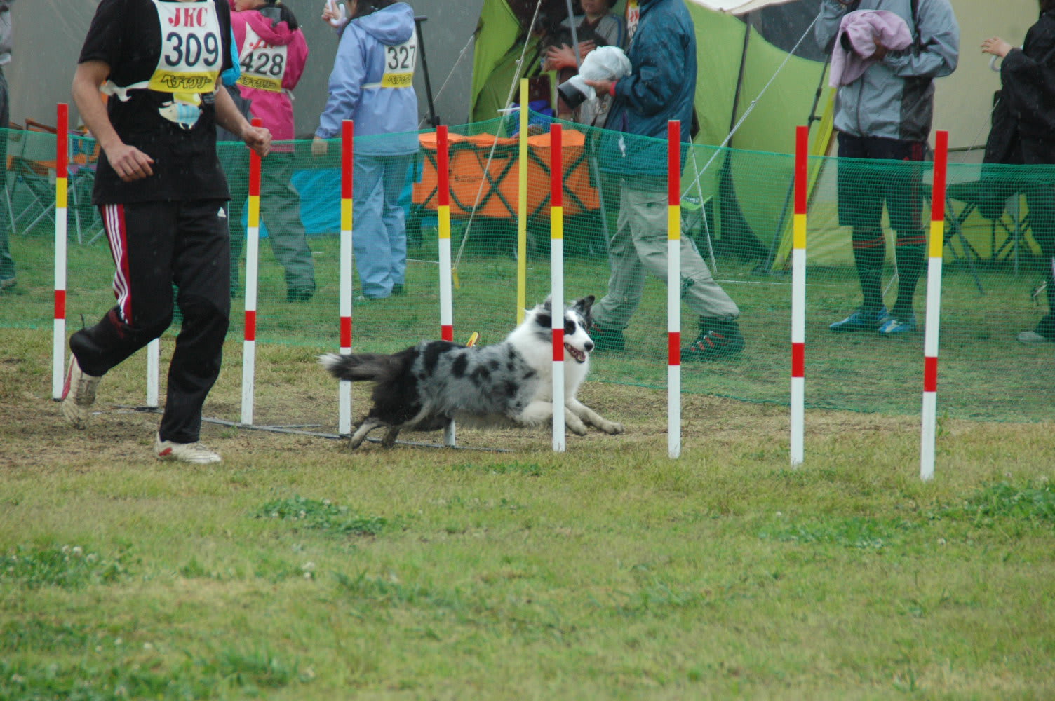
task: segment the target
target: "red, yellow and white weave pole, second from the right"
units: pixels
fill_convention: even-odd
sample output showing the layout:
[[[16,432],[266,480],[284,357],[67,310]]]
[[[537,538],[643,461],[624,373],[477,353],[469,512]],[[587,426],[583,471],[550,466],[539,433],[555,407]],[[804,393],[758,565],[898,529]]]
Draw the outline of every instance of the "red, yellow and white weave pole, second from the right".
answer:
[[[806,176],[809,128],[794,134],[791,229],[791,467],[802,465],[806,434]]]

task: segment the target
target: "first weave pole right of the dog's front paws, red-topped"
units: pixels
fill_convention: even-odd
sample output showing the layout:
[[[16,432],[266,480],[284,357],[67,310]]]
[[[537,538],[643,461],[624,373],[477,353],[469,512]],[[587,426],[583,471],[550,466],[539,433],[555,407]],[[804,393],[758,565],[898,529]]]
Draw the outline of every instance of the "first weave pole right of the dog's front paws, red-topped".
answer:
[[[667,452],[682,455],[682,122],[667,122]]]

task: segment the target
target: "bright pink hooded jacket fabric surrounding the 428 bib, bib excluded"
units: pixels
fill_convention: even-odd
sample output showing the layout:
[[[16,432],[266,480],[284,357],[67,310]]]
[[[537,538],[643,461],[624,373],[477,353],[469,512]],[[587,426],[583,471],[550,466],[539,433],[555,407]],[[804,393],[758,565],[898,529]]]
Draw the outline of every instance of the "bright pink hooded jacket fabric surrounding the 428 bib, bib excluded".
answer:
[[[234,2],[231,0],[231,4]],[[283,91],[275,93],[239,84],[242,96],[252,100],[250,111],[254,117],[260,117],[264,125],[271,130],[275,140],[287,141],[294,138],[293,103],[288,92],[296,87],[304,65],[308,60],[308,44],[300,28],[290,31],[286,22],[271,23],[255,9],[231,13],[231,28],[234,31],[234,41],[239,56],[246,48],[247,27],[251,28],[263,41],[271,46],[286,46],[286,61],[282,77]]]

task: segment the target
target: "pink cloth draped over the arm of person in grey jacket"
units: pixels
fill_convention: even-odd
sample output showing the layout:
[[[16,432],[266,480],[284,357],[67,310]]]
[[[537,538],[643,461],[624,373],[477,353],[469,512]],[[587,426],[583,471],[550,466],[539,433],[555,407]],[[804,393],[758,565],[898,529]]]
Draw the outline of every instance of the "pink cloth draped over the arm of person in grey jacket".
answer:
[[[843,35],[853,51],[843,48]],[[876,62],[876,40],[889,51],[903,51],[913,44],[913,33],[905,20],[885,9],[858,9],[846,14],[839,23],[836,45],[831,50],[828,84],[849,85]]]

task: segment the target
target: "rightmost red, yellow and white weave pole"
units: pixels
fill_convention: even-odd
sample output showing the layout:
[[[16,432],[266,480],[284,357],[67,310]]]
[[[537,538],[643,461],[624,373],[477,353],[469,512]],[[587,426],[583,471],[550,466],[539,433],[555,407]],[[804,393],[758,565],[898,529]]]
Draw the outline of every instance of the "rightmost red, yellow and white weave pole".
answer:
[[[945,246],[945,174],[948,132],[935,138],[934,187],[931,194],[931,239],[927,242],[926,322],[923,331],[923,427],[920,439],[920,479],[934,479],[938,428],[938,330],[941,326],[941,256]]]

